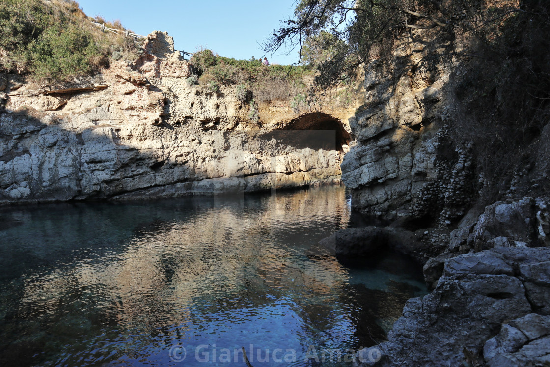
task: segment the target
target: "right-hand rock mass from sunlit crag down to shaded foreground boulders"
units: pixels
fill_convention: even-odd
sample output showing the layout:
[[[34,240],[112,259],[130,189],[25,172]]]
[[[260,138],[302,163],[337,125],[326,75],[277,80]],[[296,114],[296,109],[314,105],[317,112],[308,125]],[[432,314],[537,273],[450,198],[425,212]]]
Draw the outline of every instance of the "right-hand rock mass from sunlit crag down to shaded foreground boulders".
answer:
[[[491,183],[475,173],[474,143],[450,138],[463,45],[434,42],[429,30],[403,36],[392,57],[365,67],[367,98],[349,120],[357,141],[342,162],[355,209],[393,223],[353,241],[345,229],[332,242],[347,256],[381,243],[415,256],[433,292],[410,299],[388,340],[357,353],[354,366],[548,365],[547,193],[533,180],[530,196],[518,195],[518,175],[501,185],[507,200],[479,200],[477,189]]]

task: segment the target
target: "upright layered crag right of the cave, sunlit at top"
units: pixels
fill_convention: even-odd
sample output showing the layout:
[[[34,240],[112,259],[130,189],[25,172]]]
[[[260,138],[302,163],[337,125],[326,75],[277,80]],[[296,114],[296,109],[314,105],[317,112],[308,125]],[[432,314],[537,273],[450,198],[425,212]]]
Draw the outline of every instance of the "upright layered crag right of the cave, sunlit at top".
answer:
[[[445,125],[453,45],[430,40],[425,30],[412,31],[391,61],[366,66],[366,103],[349,119],[357,144],[344,157],[342,180],[354,189],[353,206],[368,215],[447,225],[469,206],[472,162],[469,147],[449,147]]]

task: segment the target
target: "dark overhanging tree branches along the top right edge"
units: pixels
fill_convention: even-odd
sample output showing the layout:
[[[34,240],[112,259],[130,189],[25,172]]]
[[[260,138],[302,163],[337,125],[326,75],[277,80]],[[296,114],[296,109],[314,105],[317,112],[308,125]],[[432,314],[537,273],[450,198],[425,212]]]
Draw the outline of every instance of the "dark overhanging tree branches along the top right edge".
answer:
[[[294,17],[283,21],[263,48],[273,52],[283,46],[299,47],[297,63],[303,62],[303,56],[307,62],[309,42],[331,35],[331,56],[318,65],[321,73],[316,79],[326,86],[354,74],[373,45],[384,54],[384,48],[389,50],[407,30],[436,28],[442,36],[452,35],[456,28],[474,32],[507,14],[522,12],[523,2],[504,1],[489,14],[483,0],[301,0]]]

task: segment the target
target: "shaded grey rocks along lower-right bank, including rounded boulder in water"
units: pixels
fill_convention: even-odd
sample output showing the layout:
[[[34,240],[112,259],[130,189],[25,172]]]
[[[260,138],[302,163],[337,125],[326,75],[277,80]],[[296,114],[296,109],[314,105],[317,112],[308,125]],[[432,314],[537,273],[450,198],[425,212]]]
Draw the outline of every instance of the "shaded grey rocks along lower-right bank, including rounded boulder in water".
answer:
[[[442,236],[437,229],[351,228],[322,240],[337,256],[357,259],[384,247],[409,255],[424,265],[433,289],[410,299],[388,341],[361,350],[354,366],[550,363],[547,202],[525,197],[487,206],[441,247],[432,242],[434,233]],[[439,254],[427,258],[434,248]]]

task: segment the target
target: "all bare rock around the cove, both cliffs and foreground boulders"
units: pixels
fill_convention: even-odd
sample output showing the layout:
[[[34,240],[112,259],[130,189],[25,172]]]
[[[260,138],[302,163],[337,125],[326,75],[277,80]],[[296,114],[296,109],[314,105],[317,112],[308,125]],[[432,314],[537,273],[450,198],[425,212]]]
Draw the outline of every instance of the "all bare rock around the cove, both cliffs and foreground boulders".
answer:
[[[48,89],[0,75],[0,204],[243,193],[341,177],[355,210],[392,224],[323,243],[343,258],[381,248],[409,255],[433,289],[410,299],[388,341],[357,353],[354,366],[550,365],[550,199],[536,185],[518,194],[518,172],[506,201],[481,204],[473,145],[449,134],[457,48],[414,30],[389,64],[367,63],[356,111],[266,105],[258,121],[232,86],[186,83],[190,66],[161,32],[134,64],[78,83]],[[327,123],[346,144],[320,149],[300,135]],[[273,135],[281,132],[293,136]]]

